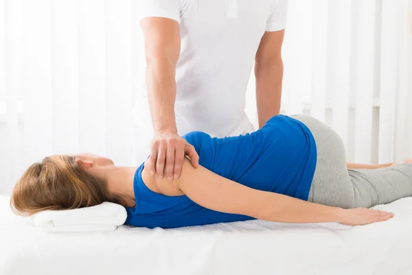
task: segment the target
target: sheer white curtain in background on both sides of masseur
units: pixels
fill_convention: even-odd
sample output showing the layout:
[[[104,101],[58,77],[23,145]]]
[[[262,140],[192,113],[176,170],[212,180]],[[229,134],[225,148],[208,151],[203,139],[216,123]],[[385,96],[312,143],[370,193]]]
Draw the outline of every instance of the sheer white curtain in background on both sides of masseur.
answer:
[[[351,161],[412,156],[411,10],[411,0],[290,0],[283,112],[332,126]],[[132,102],[147,104],[136,14],[136,0],[0,0],[0,193],[46,155],[128,164]],[[253,92],[252,76],[255,121]]]

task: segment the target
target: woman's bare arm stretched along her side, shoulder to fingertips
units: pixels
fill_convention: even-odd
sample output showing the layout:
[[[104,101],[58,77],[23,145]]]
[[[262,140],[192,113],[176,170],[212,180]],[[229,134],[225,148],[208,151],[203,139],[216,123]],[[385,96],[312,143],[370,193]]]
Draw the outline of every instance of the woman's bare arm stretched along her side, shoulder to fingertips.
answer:
[[[379,210],[367,208],[344,210],[273,192],[255,190],[220,177],[206,168],[194,168],[187,159],[183,164],[181,177],[172,185],[167,181],[150,177],[145,170],[142,175],[149,188],[163,195],[185,194],[205,208],[231,214],[243,214],[266,221],[339,222],[347,225],[363,225],[393,217],[393,214]]]

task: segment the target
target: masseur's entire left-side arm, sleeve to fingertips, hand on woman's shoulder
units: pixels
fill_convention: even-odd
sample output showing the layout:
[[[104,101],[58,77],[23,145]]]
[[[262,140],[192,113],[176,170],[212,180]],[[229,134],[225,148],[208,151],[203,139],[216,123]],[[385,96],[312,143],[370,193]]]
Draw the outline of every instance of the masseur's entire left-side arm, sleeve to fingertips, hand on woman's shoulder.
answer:
[[[141,21],[146,49],[146,85],[155,137],[145,166],[154,175],[169,181],[181,175],[183,158],[188,155],[198,166],[193,146],[176,129],[176,63],[181,49],[179,23],[172,19],[147,18]],[[142,144],[144,146],[144,144]]]

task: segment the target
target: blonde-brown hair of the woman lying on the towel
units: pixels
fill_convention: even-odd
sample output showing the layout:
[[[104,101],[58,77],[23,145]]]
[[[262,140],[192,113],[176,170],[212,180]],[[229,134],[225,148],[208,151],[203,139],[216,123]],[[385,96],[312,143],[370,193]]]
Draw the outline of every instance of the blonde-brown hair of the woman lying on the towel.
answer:
[[[55,155],[30,166],[14,186],[10,206],[16,214],[43,210],[69,210],[95,206],[104,201],[121,204],[107,190],[106,181],[82,169],[74,157]]]

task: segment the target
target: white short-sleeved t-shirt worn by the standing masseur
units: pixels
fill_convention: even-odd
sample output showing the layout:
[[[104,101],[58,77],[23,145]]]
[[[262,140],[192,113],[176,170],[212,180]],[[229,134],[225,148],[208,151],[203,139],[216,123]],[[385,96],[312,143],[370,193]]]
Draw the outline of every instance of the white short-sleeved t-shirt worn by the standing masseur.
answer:
[[[245,93],[264,32],[283,30],[287,0],[139,0],[141,19],[180,24],[176,124],[180,135],[253,131]]]

